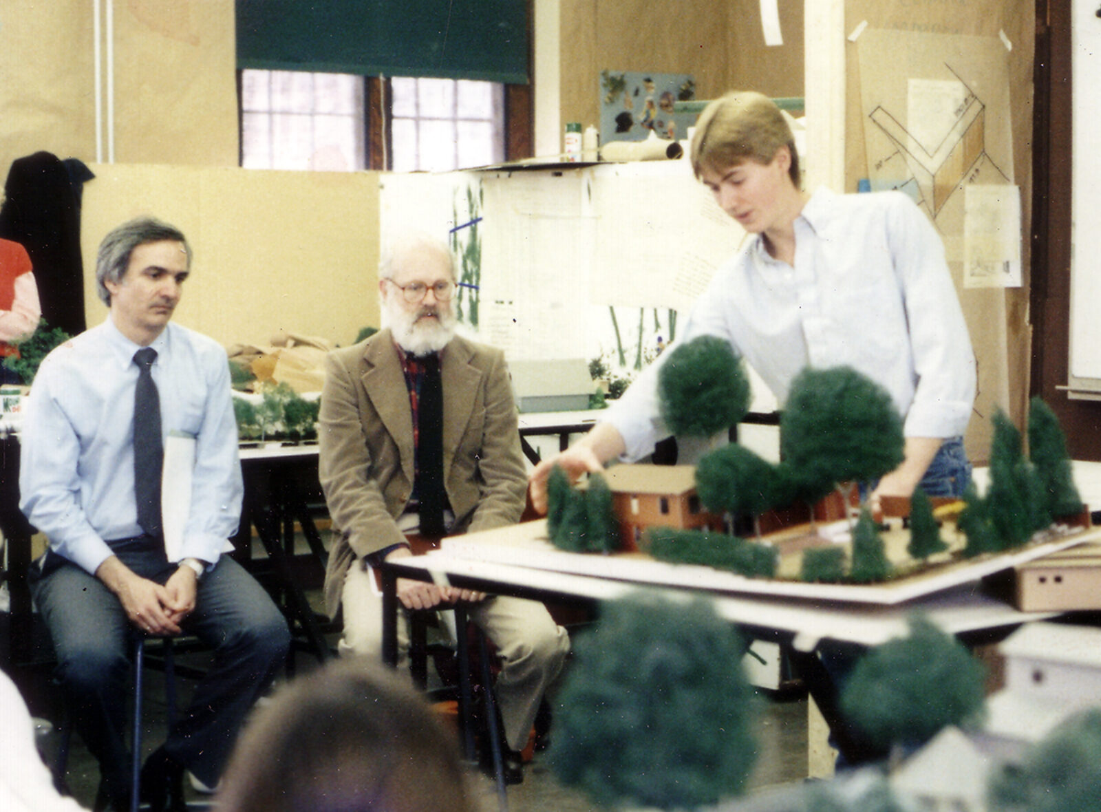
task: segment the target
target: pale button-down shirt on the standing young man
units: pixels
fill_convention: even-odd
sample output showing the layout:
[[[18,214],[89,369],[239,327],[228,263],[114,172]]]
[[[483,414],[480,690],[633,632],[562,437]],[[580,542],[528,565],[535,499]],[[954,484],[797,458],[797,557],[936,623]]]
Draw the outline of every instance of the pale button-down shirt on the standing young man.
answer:
[[[974,352],[928,218],[898,191],[822,188],[794,228],[794,266],[771,257],[761,235],[748,241],[696,301],[679,340],[729,341],[781,408],[805,366],[848,364],[887,389],[907,437],[962,435],[974,403]],[[626,443],[624,461],[645,457],[668,435],[657,369],[669,354],[607,415]]]

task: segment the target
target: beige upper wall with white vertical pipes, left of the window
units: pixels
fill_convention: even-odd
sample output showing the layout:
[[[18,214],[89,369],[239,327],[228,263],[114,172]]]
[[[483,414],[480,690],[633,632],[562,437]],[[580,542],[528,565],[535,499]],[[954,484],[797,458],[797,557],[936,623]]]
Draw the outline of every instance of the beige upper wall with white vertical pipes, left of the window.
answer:
[[[232,0],[3,0],[0,168],[61,158],[236,166]]]

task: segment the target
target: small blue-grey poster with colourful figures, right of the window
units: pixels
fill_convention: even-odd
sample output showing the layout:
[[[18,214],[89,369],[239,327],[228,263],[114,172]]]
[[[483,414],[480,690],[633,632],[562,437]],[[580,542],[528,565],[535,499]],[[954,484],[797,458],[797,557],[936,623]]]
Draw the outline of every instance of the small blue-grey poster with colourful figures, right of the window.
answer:
[[[696,98],[690,74],[642,74],[602,70],[600,92],[600,143],[645,141],[654,133],[677,141],[687,136],[697,113],[675,112],[677,101]]]

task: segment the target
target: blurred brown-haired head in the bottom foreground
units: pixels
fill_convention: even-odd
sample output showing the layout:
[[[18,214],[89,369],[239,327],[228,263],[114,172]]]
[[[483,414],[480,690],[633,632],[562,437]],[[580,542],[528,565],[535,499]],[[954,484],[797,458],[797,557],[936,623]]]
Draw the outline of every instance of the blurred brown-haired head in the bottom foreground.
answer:
[[[345,659],[258,707],[221,812],[471,812],[454,729],[378,663]]]

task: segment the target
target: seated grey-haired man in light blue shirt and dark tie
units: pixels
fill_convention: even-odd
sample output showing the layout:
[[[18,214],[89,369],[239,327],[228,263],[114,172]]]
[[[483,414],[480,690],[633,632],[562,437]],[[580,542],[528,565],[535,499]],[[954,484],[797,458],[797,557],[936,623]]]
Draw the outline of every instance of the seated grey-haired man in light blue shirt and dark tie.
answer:
[[[20,507],[50,539],[32,567],[34,600],[77,729],[100,765],[100,801],[116,809],[129,804],[122,731],[131,640],[186,632],[216,652],[190,707],[142,770],[143,800],[154,810],[178,808],[184,768],[218,782],[241,721],[290,645],[264,590],[221,555],[240,522],[237,425],[225,351],[171,323],[189,272],[190,249],[172,226],[139,219],[108,234],[96,279],[110,314],[42,362],[21,438]],[[143,408],[135,389],[149,350],[159,407]],[[135,442],[135,417],[154,419],[161,443]],[[195,442],[181,548],[171,561],[160,458],[155,474],[142,474],[140,462],[135,470],[134,459],[135,448],[143,457],[170,435]],[[142,512],[146,481],[156,495],[142,497],[152,505]]]

